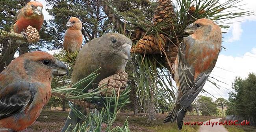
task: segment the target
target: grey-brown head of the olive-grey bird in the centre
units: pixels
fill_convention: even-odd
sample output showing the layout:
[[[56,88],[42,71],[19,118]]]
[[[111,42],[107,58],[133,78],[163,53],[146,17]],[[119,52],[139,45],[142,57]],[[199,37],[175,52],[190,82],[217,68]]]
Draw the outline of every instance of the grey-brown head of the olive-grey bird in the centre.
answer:
[[[132,40],[120,33],[106,33],[102,36],[101,41],[110,49],[110,54],[119,56],[124,60],[129,60],[130,50],[132,48]]]

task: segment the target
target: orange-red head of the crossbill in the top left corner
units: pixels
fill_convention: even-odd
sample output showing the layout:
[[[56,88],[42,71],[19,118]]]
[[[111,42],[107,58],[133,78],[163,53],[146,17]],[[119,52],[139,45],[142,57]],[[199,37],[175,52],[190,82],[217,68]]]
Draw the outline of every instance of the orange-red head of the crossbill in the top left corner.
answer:
[[[26,16],[41,16],[43,15],[43,5],[40,2],[28,2],[24,7]]]

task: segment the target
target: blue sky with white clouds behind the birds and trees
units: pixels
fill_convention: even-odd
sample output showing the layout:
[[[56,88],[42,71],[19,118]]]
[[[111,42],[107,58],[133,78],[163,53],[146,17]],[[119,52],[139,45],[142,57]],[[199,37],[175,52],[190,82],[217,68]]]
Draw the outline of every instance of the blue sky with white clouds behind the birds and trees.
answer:
[[[45,20],[51,19],[52,16],[48,15],[45,10],[51,7],[46,5],[45,0],[37,1],[44,5],[43,14]],[[224,3],[226,0],[220,0],[220,2]],[[256,0],[242,0],[241,4],[243,4],[241,8],[256,12]],[[231,84],[236,76],[245,78],[249,72],[256,73],[256,40],[254,40],[256,39],[256,16],[234,18],[228,22],[234,23],[229,25],[230,29],[223,30],[228,31],[228,33],[223,34],[222,43],[226,50],[222,49],[216,66],[210,75],[226,84],[217,82],[220,85],[220,89],[209,82],[204,86],[204,90],[214,97],[223,97],[224,99],[228,99],[228,92],[233,91]],[[53,51],[49,52],[54,53]],[[210,94],[200,93],[200,95],[207,96],[211,96]],[[215,100],[214,97],[213,99]]]

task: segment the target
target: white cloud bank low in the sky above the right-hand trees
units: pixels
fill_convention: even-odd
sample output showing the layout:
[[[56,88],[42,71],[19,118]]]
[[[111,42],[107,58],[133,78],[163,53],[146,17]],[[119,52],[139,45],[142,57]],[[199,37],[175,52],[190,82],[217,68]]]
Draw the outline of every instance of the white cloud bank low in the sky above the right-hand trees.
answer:
[[[224,97],[228,99],[228,92],[232,91],[231,83],[234,82],[236,76],[243,79],[248,76],[249,72],[256,73],[256,48],[252,51],[245,53],[241,57],[232,57],[226,55],[219,55],[215,68],[211,72],[211,77],[223,81],[224,83],[217,82],[221,86],[220,89],[216,88],[213,84],[207,82],[204,89],[219,98]],[[201,95],[204,95],[201,93]],[[206,94],[210,96],[209,94]]]

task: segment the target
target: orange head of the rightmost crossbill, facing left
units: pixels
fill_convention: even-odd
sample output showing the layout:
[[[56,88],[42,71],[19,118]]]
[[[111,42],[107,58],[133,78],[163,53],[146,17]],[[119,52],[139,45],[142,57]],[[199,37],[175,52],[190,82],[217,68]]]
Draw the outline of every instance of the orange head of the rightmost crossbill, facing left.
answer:
[[[200,35],[208,35],[213,29],[217,29],[217,31],[221,31],[219,26],[215,24],[212,20],[202,18],[198,19],[189,26],[187,26],[184,30],[184,33],[187,34],[199,34]]]

